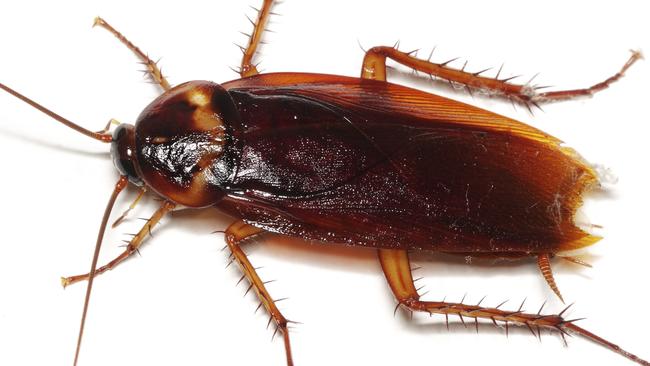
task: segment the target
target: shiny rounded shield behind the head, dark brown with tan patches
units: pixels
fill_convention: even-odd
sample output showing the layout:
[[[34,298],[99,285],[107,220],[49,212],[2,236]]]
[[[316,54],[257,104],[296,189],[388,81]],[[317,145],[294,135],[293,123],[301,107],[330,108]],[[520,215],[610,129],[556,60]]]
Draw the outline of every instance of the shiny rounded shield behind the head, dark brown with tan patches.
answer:
[[[232,128],[239,119],[230,95],[218,84],[192,81],[165,92],[135,125],[139,177],[176,203],[217,203],[233,174]]]

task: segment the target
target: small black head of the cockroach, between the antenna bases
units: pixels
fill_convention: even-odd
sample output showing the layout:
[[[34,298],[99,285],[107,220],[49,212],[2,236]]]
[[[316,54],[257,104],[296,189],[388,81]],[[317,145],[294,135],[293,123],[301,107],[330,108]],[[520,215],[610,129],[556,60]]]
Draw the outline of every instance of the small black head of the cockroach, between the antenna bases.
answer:
[[[142,179],[135,169],[135,128],[132,125],[123,123],[113,132],[111,157],[120,174],[126,175],[131,183],[142,186]]]

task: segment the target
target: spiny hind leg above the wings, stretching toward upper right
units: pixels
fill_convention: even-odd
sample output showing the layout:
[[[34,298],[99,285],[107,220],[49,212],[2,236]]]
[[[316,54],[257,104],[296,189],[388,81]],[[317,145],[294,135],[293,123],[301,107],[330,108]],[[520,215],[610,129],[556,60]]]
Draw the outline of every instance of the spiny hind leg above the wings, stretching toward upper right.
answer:
[[[447,80],[450,83],[464,85],[470,92],[471,90],[487,90],[493,94],[516,100],[527,106],[530,104],[538,106],[540,103],[555,102],[578,96],[588,96],[606,89],[610,84],[623,77],[625,71],[627,71],[627,69],[637,60],[642,59],[643,56],[639,51],[632,51],[632,56],[630,56],[619,72],[589,88],[544,93],[538,92],[540,87],[530,85],[530,82],[521,85],[511,84],[508,82],[513,78],[499,79],[501,69],[499,69],[496,77],[485,77],[481,76],[481,74],[487,70],[469,73],[464,70],[464,66],[460,70],[448,67],[447,64],[453,60],[436,64],[431,62],[429,59],[423,60],[415,57],[414,52],[402,52],[394,47],[386,46],[373,47],[366,52],[363,59],[363,66],[361,68],[361,77],[364,79],[385,81],[386,58],[390,58],[414,70],[424,72],[432,78],[437,77]]]

